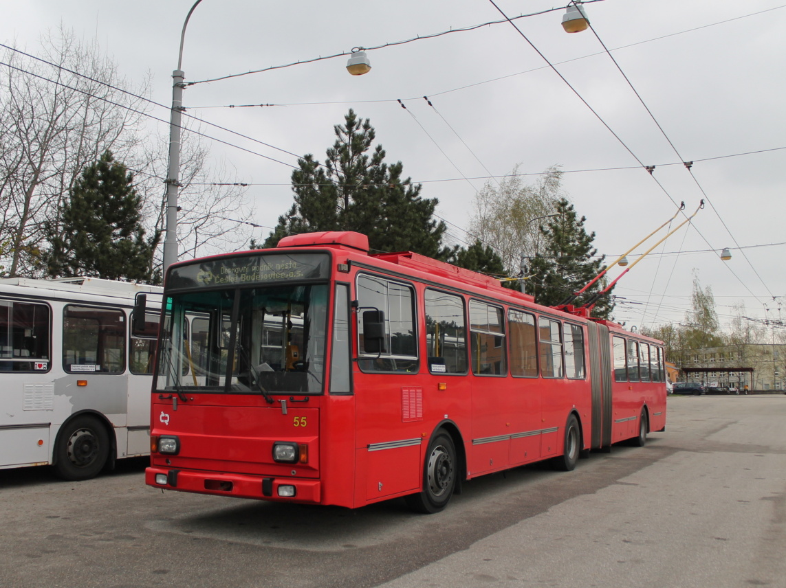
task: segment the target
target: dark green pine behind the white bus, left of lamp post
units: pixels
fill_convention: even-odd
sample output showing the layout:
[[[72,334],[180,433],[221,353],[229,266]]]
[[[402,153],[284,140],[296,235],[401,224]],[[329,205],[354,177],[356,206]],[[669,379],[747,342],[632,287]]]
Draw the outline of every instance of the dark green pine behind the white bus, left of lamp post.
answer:
[[[160,232],[145,239],[141,198],[133,182],[126,166],[108,151],[83,170],[59,210],[61,222],[46,224],[51,245],[43,253],[47,274],[160,281],[160,274],[152,272]]]

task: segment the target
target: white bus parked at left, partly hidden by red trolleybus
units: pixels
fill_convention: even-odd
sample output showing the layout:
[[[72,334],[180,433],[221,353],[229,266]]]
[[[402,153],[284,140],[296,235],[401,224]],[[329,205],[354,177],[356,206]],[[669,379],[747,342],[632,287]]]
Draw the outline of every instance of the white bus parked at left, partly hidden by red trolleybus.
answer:
[[[52,465],[87,480],[149,455],[161,292],[97,278],[0,279],[0,469]],[[145,322],[132,334],[138,294]]]

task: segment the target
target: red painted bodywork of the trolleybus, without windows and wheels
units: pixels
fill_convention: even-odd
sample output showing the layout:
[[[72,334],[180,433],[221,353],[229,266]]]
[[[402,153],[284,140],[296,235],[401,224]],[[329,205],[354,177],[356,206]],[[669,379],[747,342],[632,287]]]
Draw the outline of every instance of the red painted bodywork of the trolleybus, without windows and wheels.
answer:
[[[248,393],[186,393],[185,401],[175,402],[168,391],[154,390],[151,436],[177,436],[181,449],[178,455],[152,452],[151,466],[145,474],[147,484],[179,491],[355,508],[421,491],[428,444],[440,428],[453,436],[461,479],[468,480],[562,455],[565,425],[571,415],[581,428],[582,449],[636,437],[642,411],[647,415],[649,430],[665,427],[665,384],[613,382],[608,361],[597,363],[590,357],[593,350],[589,349],[587,331],[592,320],[535,305],[531,296],[506,290],[488,276],[417,254],[371,257],[363,251],[367,240],[347,240],[341,235],[292,236],[286,244],[292,250],[329,250],[331,284],[350,284],[350,300],[358,299],[358,273],[384,276],[413,287],[420,357],[417,371],[364,373],[352,361],[351,393],[274,393],[273,404],[261,394]],[[274,251],[281,253],[282,249]],[[475,375],[471,370],[460,375],[432,374],[424,352],[427,288],[461,294],[465,303],[476,298],[499,305],[505,312],[516,309],[582,326],[586,377],[515,378],[510,374]],[[334,290],[332,285],[330,290]],[[329,309],[332,315],[332,300]],[[354,314],[350,322],[351,355],[356,358]],[[332,316],[329,325],[330,332]],[[604,353],[611,346],[612,335],[634,336],[613,323],[598,328],[598,345],[607,347]],[[659,341],[635,337],[660,345]],[[329,357],[330,340],[328,345]],[[330,382],[329,376],[329,372],[325,374],[325,382]],[[282,400],[286,401],[286,410]],[[608,440],[593,427],[604,429]],[[596,438],[601,441],[593,442]],[[276,442],[307,447],[307,462],[274,462]],[[174,484],[157,483],[156,475]],[[282,486],[295,488],[295,495],[279,496]]]

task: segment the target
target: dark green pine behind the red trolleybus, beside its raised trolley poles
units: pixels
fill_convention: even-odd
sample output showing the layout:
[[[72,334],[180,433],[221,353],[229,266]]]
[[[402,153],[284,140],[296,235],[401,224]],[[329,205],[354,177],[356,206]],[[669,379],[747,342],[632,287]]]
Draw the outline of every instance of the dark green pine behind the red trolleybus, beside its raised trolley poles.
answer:
[[[540,230],[543,235],[541,249],[531,258],[531,277],[524,282],[527,294],[533,294],[538,304],[560,305],[571,294],[581,290],[603,268],[604,256],[594,258],[597,249],[592,246],[595,233],[584,229],[586,217],[577,217],[573,206],[566,199],[556,204],[559,214]],[[583,305],[604,287],[599,280],[571,304]],[[613,288],[612,288],[613,290]],[[608,319],[614,304],[611,291],[604,294],[593,308],[592,315]]]

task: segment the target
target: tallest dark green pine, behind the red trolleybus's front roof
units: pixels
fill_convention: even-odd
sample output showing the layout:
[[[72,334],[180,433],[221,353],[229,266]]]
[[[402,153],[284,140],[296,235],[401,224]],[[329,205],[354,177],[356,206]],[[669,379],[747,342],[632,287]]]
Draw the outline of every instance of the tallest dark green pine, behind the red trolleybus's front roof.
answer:
[[[324,166],[313,155],[299,159],[292,172],[295,203],[278,217],[264,247],[301,232],[355,231],[369,236],[373,250],[448,257],[451,250],[441,244],[445,223],[433,218],[437,199],[421,198],[421,185],[402,179],[401,162],[384,163],[381,145],[371,150],[376,133],[369,119],[350,110],[334,131]]]

